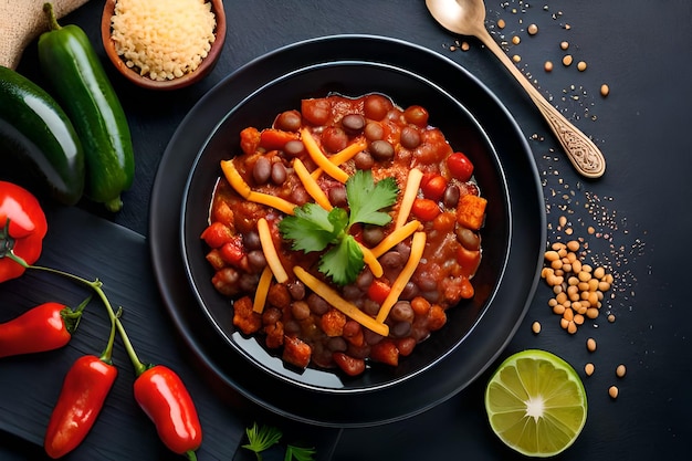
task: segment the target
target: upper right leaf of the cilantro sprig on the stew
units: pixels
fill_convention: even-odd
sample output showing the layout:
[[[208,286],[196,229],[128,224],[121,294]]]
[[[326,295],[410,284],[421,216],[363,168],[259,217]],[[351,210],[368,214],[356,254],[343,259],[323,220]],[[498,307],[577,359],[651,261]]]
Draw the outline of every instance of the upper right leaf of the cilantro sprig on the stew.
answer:
[[[370,170],[358,170],[346,181],[346,197],[350,207],[349,223],[385,226],[391,217],[382,208],[397,201],[399,188],[394,178],[385,178],[377,184]]]

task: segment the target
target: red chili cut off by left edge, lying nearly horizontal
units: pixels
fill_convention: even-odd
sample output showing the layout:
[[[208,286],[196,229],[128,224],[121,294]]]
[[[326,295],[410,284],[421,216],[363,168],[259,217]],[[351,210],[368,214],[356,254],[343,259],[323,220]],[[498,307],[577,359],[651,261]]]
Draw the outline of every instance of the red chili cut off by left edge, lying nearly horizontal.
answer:
[[[0,324],[0,358],[63,347],[72,338],[90,300],[74,311],[64,304],[44,303]]]

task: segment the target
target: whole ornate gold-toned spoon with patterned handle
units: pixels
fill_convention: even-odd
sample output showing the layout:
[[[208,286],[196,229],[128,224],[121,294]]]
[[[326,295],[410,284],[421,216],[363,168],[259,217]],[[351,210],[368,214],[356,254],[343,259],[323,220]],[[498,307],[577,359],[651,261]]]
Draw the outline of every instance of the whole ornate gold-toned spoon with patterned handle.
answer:
[[[426,0],[426,6],[434,20],[444,29],[460,35],[475,36],[497,56],[524,91],[528,93],[565,149],[572,165],[581,176],[599,178],[604,175],[606,160],[594,142],[543,97],[487,32],[483,0]]]

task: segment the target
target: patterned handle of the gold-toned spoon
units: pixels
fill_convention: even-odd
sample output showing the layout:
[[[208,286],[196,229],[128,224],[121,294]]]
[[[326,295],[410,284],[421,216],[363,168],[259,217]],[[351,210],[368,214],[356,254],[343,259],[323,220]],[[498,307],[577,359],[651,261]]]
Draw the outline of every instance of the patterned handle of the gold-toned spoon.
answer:
[[[541,114],[548,122],[551,129],[562,144],[575,169],[587,178],[599,178],[602,176],[606,171],[606,159],[594,142],[569,123],[563,114],[538,93],[484,28],[478,31],[476,36],[500,59],[520,85],[528,93]]]

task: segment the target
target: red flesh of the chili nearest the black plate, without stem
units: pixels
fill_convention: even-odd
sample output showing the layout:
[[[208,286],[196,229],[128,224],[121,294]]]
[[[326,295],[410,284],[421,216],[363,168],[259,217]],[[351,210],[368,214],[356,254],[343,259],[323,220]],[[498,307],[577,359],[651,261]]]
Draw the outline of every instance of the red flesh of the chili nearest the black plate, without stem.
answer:
[[[135,400],[169,450],[195,459],[202,429],[192,398],[174,370],[162,365],[146,369],[135,380]]]

